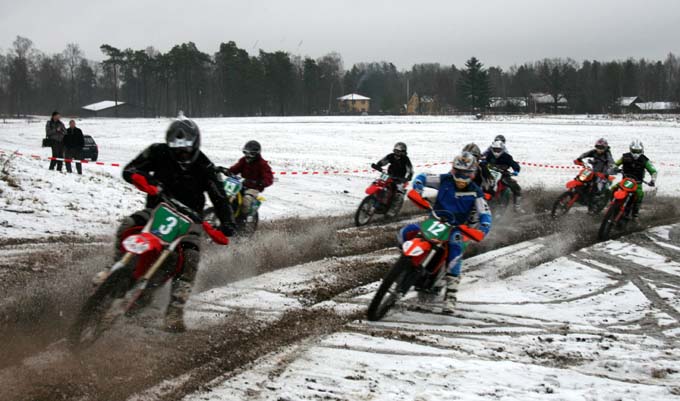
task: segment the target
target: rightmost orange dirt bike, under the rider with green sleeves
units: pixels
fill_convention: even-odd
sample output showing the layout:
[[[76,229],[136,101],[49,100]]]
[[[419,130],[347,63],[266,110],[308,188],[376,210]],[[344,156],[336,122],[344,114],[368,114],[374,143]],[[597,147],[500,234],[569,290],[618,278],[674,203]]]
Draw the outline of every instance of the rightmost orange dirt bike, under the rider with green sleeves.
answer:
[[[638,182],[629,176],[623,177],[621,182],[618,183],[597,233],[600,241],[607,241],[611,237],[612,229],[618,231],[626,229],[637,200],[638,186],[643,183],[649,185],[647,181]]]

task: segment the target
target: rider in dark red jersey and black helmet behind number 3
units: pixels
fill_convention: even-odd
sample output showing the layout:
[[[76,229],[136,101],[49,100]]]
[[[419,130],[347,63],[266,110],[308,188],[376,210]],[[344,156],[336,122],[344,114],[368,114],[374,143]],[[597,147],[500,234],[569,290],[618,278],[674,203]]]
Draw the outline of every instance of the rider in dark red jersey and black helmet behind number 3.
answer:
[[[243,204],[236,220],[243,224],[251,213],[251,207],[265,188],[274,183],[274,175],[269,162],[262,158],[262,146],[257,141],[248,141],[243,146],[243,157],[236,164],[229,167],[230,174],[240,174],[243,177]]]

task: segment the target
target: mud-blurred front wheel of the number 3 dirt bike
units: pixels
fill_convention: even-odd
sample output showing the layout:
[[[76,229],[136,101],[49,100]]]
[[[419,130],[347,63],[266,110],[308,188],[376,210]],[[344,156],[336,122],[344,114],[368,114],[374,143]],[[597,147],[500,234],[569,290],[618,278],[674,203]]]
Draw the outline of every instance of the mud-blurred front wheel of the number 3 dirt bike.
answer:
[[[69,330],[68,342],[71,349],[91,346],[102,333],[113,326],[115,318],[107,319],[107,315],[115,308],[116,300],[121,300],[131,285],[132,276],[127,268],[118,269],[106,278],[87,299]]]

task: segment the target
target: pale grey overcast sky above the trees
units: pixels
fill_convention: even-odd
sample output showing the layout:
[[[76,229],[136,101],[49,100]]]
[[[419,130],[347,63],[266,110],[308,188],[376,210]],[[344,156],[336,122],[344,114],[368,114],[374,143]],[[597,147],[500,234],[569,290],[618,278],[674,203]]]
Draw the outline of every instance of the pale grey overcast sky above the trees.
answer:
[[[0,49],[16,35],[48,53],[80,44],[161,51],[193,41],[213,54],[285,50],[360,61],[507,67],[545,57],[660,59],[680,53],[679,0],[0,0]]]

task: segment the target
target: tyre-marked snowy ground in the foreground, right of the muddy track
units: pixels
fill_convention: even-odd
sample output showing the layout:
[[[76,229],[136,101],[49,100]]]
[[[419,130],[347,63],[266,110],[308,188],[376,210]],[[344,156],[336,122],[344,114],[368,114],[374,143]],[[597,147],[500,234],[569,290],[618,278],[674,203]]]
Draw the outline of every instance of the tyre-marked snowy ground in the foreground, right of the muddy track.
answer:
[[[680,399],[678,230],[598,244],[502,281],[497,273],[507,266],[497,261],[521,265],[540,241],[471,258],[455,316],[402,309],[379,323],[354,321],[187,400]],[[301,308],[296,294],[323,268],[307,264],[204,293],[192,316],[257,305],[263,319],[280,316]],[[364,310],[376,286],[317,307]]]

